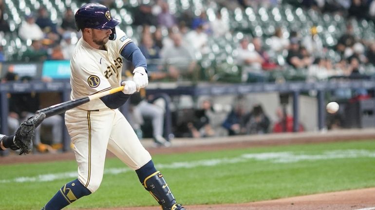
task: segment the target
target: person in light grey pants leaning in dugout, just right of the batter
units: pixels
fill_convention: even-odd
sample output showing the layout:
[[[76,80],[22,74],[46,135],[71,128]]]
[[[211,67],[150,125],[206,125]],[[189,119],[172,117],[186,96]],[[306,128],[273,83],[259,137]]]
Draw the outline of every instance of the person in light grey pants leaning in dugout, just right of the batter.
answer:
[[[143,89],[142,89],[143,90]],[[131,125],[133,129],[140,128],[146,119],[151,119],[152,138],[156,146],[169,146],[170,143],[163,137],[164,131],[164,109],[146,100],[146,93],[143,91],[134,93],[130,97],[131,103]],[[141,117],[139,117],[141,116]],[[138,122],[138,123],[137,123]]]

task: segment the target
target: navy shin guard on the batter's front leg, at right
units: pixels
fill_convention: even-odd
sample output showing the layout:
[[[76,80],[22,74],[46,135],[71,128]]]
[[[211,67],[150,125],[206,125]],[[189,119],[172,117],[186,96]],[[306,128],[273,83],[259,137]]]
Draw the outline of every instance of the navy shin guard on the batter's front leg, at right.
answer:
[[[170,192],[166,180],[163,175],[157,171],[145,178],[143,186],[147,191],[156,199],[156,201],[162,206],[163,210],[174,210],[176,207],[176,199]]]

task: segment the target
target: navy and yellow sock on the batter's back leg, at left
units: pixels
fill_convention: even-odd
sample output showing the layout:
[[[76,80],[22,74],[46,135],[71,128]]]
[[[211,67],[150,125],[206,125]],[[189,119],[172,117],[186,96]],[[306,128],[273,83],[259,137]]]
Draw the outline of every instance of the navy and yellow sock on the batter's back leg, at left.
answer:
[[[64,185],[41,210],[61,210],[91,192],[75,179]]]

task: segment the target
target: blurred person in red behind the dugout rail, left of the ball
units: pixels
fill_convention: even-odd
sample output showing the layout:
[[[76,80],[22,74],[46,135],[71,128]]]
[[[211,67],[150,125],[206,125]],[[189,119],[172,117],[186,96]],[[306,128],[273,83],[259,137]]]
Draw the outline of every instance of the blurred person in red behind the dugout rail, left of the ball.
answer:
[[[279,118],[279,120],[274,125],[272,131],[274,133],[281,133],[281,132],[293,132],[293,123],[294,118],[291,115],[288,115],[286,113],[286,109],[278,108],[276,110],[276,115]],[[302,132],[304,130],[302,124],[299,123],[298,130],[299,132]]]

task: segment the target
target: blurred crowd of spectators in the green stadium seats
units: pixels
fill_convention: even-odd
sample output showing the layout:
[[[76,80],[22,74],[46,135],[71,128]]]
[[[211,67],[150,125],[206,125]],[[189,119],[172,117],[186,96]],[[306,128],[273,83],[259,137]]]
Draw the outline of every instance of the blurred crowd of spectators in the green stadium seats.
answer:
[[[79,1],[84,3],[83,1]],[[114,0],[98,0],[109,8],[115,8]],[[151,80],[177,81],[215,80],[202,65],[212,60],[215,49],[211,39],[229,34],[237,47],[229,49],[228,57],[241,70],[240,81],[269,81],[269,74],[280,69],[297,69],[308,81],[327,80],[333,76],[358,76],[366,73],[364,66],[375,63],[374,39],[361,38],[353,31],[350,19],[373,21],[373,0],[291,0],[297,7],[314,10],[318,15],[340,15],[345,18],[346,31],[338,37],[335,46],[327,46],[322,40],[321,27],[311,26],[308,34],[298,30],[276,27],[273,35],[257,36],[254,32],[236,33],[228,16],[256,11],[259,8],[277,8],[288,0],[204,0],[211,10],[185,10],[182,13],[169,10],[166,0],[139,0],[131,11],[133,30],[129,35],[139,44],[149,60]],[[5,3],[0,0],[0,32],[9,32],[4,14]],[[124,26],[124,25],[122,25]],[[52,21],[49,12],[40,6],[35,13],[22,18],[16,28],[19,38],[27,49],[15,56],[6,57],[0,47],[0,61],[69,60],[80,33],[75,30],[74,11],[65,8],[64,16]],[[124,30],[124,29],[123,29]],[[139,34],[138,34],[139,32]],[[1,33],[0,33],[1,36]],[[332,50],[337,55],[332,59]],[[327,54],[331,56],[327,56]],[[17,56],[18,55],[18,56]],[[281,56],[281,58],[280,58]],[[228,61],[228,63],[231,63]],[[131,66],[127,66],[131,68]],[[202,69],[203,68],[203,69]],[[205,76],[202,76],[205,75]],[[208,75],[208,76],[207,76]],[[208,78],[207,78],[208,77]]]

